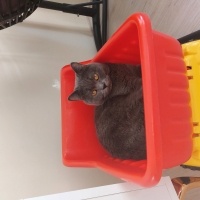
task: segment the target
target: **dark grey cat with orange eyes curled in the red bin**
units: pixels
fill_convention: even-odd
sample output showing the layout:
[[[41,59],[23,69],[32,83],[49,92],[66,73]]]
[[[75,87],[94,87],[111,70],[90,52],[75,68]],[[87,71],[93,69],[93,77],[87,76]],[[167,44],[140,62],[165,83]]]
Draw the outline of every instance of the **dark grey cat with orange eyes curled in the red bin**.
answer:
[[[97,137],[115,158],[146,158],[141,67],[71,63],[76,73],[69,100],[95,105]]]

